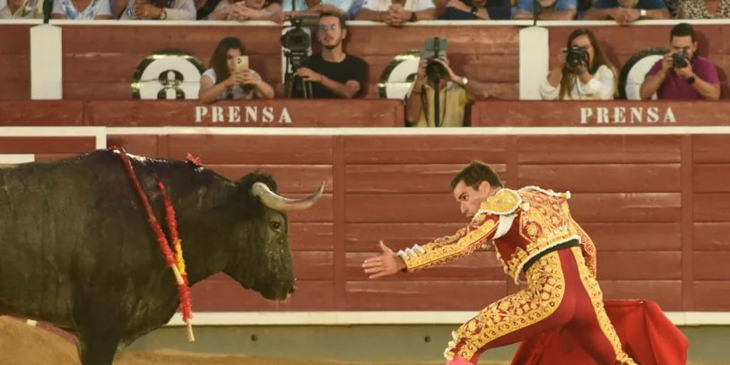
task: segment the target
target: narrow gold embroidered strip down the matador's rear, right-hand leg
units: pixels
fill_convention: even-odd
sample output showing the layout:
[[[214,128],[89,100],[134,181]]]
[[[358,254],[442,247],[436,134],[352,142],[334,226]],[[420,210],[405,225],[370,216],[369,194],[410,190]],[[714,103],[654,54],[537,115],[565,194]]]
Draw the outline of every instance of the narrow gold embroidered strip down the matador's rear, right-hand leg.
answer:
[[[606,336],[608,341],[611,343],[614,352],[616,353],[616,360],[621,362],[622,365],[637,365],[629,355],[623,351],[621,347],[621,339],[618,338],[615,328],[611,323],[606,309],[603,305],[603,293],[599,287],[596,278],[591,275],[588,271],[588,266],[585,265],[583,260],[583,253],[580,247],[572,247],[571,252],[575,256],[575,262],[578,265],[578,272],[580,272],[580,280],[583,281],[583,287],[588,292],[588,297],[591,298],[593,303],[593,310],[596,312],[596,319],[598,320],[601,331]]]

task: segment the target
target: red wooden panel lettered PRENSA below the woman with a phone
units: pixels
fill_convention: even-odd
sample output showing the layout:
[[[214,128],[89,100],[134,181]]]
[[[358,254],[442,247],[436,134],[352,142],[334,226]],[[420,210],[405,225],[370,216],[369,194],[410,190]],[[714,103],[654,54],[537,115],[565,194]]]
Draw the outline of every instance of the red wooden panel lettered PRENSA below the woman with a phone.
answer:
[[[393,99],[247,100],[212,105],[182,100],[0,101],[0,125],[401,127],[403,108],[402,101]]]

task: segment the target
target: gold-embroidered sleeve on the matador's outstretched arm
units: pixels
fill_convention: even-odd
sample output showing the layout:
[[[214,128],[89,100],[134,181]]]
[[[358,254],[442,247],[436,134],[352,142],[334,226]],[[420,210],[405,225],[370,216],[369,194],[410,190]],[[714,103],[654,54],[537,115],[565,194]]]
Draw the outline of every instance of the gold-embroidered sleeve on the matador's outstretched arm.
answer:
[[[464,237],[458,239],[457,242],[444,244],[444,241],[437,241],[439,243],[431,242],[423,245],[418,250],[412,250],[410,255],[399,253],[401,258],[406,264],[406,268],[409,272],[414,272],[419,269],[426,269],[427,267],[444,264],[448,261],[453,260],[464,255],[469,255],[480,247],[483,247],[493,237],[494,232],[497,228],[497,222],[493,219],[485,220],[481,226],[478,226],[472,231],[466,228]],[[451,239],[457,237],[452,236]],[[448,241],[449,239],[445,239]]]

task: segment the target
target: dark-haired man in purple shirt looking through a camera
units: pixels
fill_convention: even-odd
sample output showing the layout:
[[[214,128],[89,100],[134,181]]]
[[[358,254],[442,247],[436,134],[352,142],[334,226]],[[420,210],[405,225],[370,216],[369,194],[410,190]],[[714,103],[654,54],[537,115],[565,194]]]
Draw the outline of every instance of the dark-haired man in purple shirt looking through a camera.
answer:
[[[639,88],[641,99],[651,99],[656,93],[658,99],[673,100],[718,100],[720,99],[720,77],[718,69],[710,60],[697,55],[697,35],[688,23],[672,28],[669,35],[671,50],[646,74]],[[675,53],[685,53],[689,61],[686,66],[677,66],[672,61]]]

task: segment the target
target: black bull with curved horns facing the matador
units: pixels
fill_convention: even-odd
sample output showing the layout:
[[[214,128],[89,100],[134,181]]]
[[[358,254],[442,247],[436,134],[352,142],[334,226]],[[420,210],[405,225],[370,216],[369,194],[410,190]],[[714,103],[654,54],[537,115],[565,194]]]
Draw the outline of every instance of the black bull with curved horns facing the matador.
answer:
[[[311,207],[324,185],[285,199],[265,173],[231,181],[190,161],[130,159],[165,230],[157,184],[166,185],[190,285],[225,272],[266,299],[293,293],[286,211]],[[0,315],[69,331],[83,365],[110,365],[119,345],[164,326],[179,304],[119,153],[0,168]]]

